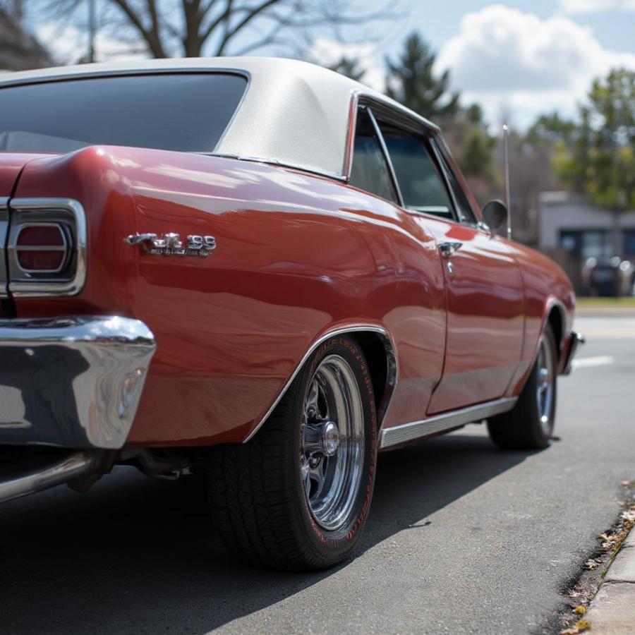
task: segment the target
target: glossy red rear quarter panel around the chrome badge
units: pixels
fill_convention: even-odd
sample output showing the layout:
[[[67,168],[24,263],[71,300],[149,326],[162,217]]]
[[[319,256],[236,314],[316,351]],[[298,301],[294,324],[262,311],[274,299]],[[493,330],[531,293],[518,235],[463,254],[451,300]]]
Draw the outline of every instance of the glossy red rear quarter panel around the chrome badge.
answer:
[[[90,147],[26,167],[16,196],[76,198],[88,275],[19,317],[120,314],[155,333],[130,444],[243,440],[321,334],[385,327],[400,381],[385,425],[422,418],[444,353],[442,270],[397,207],[329,179],[232,159]],[[148,255],[128,234],[212,234],[208,258]]]

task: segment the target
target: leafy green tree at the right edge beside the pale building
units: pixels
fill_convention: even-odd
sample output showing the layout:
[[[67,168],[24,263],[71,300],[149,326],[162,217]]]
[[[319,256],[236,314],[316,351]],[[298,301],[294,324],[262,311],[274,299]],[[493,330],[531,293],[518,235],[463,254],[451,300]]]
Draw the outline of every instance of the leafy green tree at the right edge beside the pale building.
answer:
[[[635,72],[595,80],[579,117],[572,147],[555,157],[558,174],[597,205],[635,209]]]

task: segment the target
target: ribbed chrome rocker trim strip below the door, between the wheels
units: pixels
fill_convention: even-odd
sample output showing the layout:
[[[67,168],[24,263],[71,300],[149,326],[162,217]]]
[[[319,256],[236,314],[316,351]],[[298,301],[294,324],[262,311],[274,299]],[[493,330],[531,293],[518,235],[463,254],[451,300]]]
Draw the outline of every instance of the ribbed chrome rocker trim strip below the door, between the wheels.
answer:
[[[444,430],[459,428],[461,425],[466,425],[466,423],[474,423],[475,421],[507,412],[516,405],[516,401],[516,397],[505,397],[504,399],[487,401],[485,404],[476,404],[476,406],[469,406],[468,408],[461,408],[460,410],[435,415],[423,419],[423,421],[394,425],[392,428],[382,430],[379,447],[380,449],[384,449],[391,445],[399,445],[421,437],[428,437],[443,432]]]

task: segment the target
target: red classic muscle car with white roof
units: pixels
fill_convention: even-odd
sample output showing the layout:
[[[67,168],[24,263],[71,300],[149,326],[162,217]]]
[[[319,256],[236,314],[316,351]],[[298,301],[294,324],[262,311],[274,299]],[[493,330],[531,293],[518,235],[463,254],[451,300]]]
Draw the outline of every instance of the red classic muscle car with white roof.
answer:
[[[377,452],[487,420],[543,448],[579,336],[439,128],[317,66],[0,80],[0,500],[205,478],[228,548],[343,560]]]

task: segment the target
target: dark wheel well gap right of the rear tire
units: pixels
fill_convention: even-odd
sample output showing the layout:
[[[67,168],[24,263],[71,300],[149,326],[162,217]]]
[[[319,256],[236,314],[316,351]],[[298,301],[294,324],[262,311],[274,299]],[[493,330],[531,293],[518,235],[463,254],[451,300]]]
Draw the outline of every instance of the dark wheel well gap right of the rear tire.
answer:
[[[354,334],[354,337],[368,364],[368,373],[373,382],[375,395],[377,425],[380,426],[397,382],[397,363],[392,342],[387,336],[373,331],[358,332]]]

